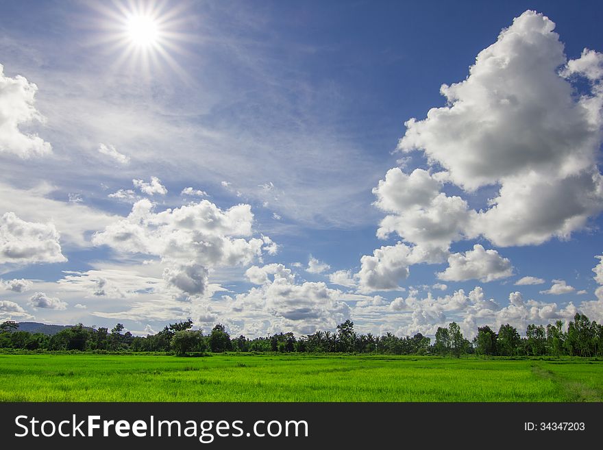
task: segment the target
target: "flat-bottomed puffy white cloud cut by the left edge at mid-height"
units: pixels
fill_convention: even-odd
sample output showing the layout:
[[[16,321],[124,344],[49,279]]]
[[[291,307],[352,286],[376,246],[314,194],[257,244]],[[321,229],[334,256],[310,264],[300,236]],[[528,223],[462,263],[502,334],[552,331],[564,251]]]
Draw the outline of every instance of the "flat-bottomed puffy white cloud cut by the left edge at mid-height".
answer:
[[[64,262],[53,223],[26,222],[14,212],[0,218],[0,264]]]

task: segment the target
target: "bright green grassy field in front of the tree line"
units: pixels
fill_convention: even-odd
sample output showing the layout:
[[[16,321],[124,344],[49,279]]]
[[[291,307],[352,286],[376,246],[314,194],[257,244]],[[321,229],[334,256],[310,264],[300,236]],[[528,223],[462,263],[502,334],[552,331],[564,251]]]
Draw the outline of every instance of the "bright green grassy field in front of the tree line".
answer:
[[[0,401],[603,401],[603,361],[0,355]]]

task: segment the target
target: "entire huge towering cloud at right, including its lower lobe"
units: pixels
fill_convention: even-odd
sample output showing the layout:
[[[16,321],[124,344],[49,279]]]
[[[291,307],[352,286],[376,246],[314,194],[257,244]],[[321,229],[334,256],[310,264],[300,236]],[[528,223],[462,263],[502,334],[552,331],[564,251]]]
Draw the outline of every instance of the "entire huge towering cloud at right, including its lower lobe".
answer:
[[[500,184],[490,208],[465,230],[495,245],[567,238],[603,208],[596,166],[603,92],[595,83],[603,57],[585,51],[568,62],[553,29],[531,11],[515,18],[480,52],[467,79],[442,86],[447,105],[423,121],[410,119],[399,142],[400,151],[425,151],[466,191]],[[571,82],[558,73],[564,64],[567,73],[591,77],[591,94],[573,97]]]

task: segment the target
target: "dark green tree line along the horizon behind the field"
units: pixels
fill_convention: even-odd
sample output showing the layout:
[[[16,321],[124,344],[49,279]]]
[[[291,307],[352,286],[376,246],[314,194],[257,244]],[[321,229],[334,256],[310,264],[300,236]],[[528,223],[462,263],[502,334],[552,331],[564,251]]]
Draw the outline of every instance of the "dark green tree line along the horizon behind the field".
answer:
[[[169,324],[162,331],[148,336],[133,336],[123,332],[118,323],[92,329],[81,323],[63,329],[51,336],[42,333],[19,331],[19,324],[6,321],[0,325],[1,349],[25,349],[32,351],[96,351],[104,352],[166,352],[175,355],[194,353],[278,352],[278,353],[377,353],[393,355],[450,355],[457,358],[465,354],[487,356],[582,356],[603,355],[603,325],[590,321],[584,314],[576,314],[567,324],[556,321],[546,327],[528,325],[526,336],[521,337],[515,327],[501,325],[497,332],[489,326],[478,327],[473,340],[463,336],[457,323],[438,327],[431,338],[417,333],[398,337],[392,333],[374,336],[358,334],[354,322],[337,325],[335,332],[317,331],[295,337],[280,333],[254,339],[241,335],[231,337],[225,327],[218,324],[209,334],[193,330],[193,321]]]

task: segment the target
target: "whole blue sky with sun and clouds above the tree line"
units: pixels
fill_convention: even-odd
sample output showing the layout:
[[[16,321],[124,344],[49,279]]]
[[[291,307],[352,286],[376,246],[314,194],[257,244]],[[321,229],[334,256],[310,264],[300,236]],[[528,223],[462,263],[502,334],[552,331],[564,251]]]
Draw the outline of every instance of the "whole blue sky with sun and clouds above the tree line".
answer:
[[[603,320],[597,3],[0,16],[0,319],[247,336]]]

